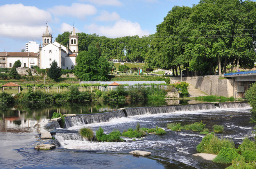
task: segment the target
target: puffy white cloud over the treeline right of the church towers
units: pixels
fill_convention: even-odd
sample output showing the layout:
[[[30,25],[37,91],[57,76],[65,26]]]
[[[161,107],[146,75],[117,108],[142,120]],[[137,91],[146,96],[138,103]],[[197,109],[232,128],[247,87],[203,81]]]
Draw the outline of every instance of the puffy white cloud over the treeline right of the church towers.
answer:
[[[139,35],[149,35],[149,31],[142,30],[137,22],[132,23],[131,21],[126,21],[121,19],[117,21],[113,26],[99,26],[96,24],[91,24],[85,27],[91,33],[97,33],[99,35],[104,35],[109,38],[117,38],[124,36]]]

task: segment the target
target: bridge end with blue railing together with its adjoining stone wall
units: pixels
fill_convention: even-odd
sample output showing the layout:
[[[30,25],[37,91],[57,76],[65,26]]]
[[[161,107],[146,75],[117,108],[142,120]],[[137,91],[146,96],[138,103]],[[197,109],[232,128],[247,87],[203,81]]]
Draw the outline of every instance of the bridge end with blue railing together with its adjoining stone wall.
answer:
[[[183,80],[192,84],[208,95],[245,98],[245,91],[256,81],[256,70],[236,73],[225,73],[220,76],[184,77]]]

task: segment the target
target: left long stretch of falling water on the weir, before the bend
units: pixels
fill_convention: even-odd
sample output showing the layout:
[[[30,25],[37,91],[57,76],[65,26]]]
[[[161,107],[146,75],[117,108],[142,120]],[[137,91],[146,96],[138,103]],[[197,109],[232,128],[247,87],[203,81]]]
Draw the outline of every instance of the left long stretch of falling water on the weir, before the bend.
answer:
[[[121,117],[125,117],[125,114],[122,110],[115,112],[77,115],[75,117],[65,117],[65,128],[91,123],[102,123],[114,118]]]

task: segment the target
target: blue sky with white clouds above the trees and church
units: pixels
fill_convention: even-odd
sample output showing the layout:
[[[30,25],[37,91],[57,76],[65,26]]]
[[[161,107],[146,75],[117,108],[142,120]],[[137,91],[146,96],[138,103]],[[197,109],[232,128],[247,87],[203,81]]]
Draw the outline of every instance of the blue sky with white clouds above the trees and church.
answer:
[[[199,0],[8,0],[0,1],[0,52],[20,52],[42,43],[46,23],[54,39],[64,31],[108,38],[149,35],[173,6]]]

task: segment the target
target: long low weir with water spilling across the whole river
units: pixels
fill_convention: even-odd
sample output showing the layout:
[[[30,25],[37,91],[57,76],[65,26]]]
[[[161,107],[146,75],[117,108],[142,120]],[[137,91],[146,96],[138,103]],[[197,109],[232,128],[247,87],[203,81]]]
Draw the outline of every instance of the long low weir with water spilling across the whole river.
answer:
[[[220,108],[250,108],[246,102],[230,102],[218,103]],[[199,110],[213,110],[216,109],[214,103],[205,104],[189,104],[189,105],[173,105],[173,106],[158,106],[158,107],[137,107],[125,108],[114,112],[96,113],[96,114],[83,114],[76,115],[75,117],[65,117],[65,128],[72,126],[81,126],[91,123],[108,122],[115,118],[130,117],[137,115],[151,115],[162,113],[173,113],[179,111],[199,111]],[[54,129],[60,127],[58,122],[50,122],[46,125],[47,129]]]

